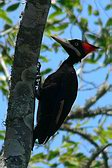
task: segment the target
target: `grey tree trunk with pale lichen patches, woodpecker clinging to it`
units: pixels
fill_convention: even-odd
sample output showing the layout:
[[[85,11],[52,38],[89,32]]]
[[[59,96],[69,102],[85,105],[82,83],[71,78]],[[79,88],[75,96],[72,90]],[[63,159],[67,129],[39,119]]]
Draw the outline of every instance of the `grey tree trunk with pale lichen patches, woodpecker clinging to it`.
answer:
[[[50,0],[27,0],[17,35],[1,168],[26,168],[31,154],[36,64]]]

